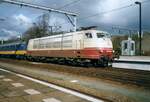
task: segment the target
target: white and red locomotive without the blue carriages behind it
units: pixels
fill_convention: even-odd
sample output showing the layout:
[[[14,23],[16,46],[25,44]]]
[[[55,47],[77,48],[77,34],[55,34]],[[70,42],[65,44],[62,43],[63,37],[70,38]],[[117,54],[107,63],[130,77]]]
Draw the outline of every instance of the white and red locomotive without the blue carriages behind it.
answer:
[[[30,39],[28,58],[57,58],[107,66],[113,60],[113,46],[107,32],[84,30]]]

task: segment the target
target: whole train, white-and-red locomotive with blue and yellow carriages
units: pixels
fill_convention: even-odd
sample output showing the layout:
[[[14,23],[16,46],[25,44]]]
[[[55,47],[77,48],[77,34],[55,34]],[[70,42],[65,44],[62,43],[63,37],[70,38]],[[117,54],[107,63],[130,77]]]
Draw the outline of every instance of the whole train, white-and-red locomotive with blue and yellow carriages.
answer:
[[[110,34],[99,30],[83,30],[0,45],[1,57],[31,61],[108,66],[113,61]]]

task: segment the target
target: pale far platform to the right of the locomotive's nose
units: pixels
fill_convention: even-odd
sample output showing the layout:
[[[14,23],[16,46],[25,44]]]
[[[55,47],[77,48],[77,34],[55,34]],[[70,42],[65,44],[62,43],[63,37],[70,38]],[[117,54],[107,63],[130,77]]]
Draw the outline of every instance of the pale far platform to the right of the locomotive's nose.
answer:
[[[114,68],[150,71],[150,56],[120,56],[112,64]]]

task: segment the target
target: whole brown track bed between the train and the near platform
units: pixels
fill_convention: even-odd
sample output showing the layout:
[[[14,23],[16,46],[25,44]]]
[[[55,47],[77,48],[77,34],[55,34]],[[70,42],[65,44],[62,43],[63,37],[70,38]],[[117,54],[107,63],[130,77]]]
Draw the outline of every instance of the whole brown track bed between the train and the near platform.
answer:
[[[10,59],[0,59],[0,65],[6,66],[9,70],[73,89],[86,95],[93,95],[93,97],[106,101],[141,102],[145,99],[150,100],[148,98],[150,73],[147,71],[85,68]],[[78,82],[71,83],[72,80],[78,80]],[[106,83],[109,85],[107,86]],[[105,89],[110,91],[104,91]],[[135,97],[134,94],[136,93],[140,94]],[[133,96],[130,97],[131,94]]]

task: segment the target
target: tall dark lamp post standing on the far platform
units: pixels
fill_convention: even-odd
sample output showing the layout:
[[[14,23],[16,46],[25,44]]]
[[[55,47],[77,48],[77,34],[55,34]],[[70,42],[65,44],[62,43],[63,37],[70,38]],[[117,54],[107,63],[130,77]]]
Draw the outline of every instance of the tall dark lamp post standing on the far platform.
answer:
[[[142,3],[136,1],[135,4],[139,5],[139,55],[142,55]]]

